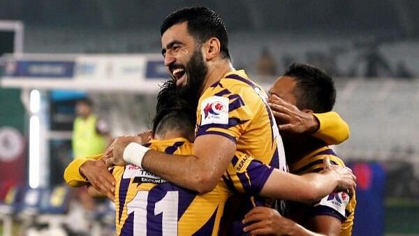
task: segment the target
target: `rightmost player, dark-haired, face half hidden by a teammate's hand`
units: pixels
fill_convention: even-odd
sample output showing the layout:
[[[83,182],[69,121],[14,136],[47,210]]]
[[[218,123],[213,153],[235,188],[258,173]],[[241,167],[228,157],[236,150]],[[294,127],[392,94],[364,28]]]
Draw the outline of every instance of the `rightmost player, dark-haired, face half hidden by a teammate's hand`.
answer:
[[[323,71],[308,64],[293,64],[270,89],[269,101],[274,110],[277,108],[277,97],[307,113],[329,112],[335,105],[336,90],[332,78]],[[297,175],[322,170],[324,158],[330,158],[335,165],[345,166],[325,142],[312,135],[287,132],[281,132],[281,135],[284,137],[290,170]],[[355,193],[350,198],[345,191],[338,191],[330,193],[314,205],[293,202],[290,216],[317,233],[348,236],[352,232],[355,205]],[[244,223],[249,222],[253,223],[245,230],[253,235],[282,235],[287,227],[287,235],[316,235],[283,219],[273,209],[264,207],[252,209],[244,219]]]

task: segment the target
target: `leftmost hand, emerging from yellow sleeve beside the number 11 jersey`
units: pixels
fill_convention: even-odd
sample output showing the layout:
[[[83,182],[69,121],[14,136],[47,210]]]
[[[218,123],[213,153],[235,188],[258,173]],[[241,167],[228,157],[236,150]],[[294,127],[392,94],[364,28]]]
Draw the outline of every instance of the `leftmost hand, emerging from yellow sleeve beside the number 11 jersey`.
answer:
[[[89,179],[91,186],[110,200],[115,200],[115,178],[105,165],[105,158],[89,160],[79,168],[80,173]]]

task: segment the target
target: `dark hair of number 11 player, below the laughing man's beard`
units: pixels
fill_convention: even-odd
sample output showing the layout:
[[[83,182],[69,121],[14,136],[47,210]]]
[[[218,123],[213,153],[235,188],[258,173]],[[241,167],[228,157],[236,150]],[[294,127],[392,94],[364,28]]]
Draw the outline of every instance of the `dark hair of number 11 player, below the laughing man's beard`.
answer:
[[[163,136],[168,131],[179,130],[184,138],[193,142],[195,124],[196,110],[177,94],[174,80],[168,80],[161,86],[157,95],[156,116],[153,119],[154,133]]]

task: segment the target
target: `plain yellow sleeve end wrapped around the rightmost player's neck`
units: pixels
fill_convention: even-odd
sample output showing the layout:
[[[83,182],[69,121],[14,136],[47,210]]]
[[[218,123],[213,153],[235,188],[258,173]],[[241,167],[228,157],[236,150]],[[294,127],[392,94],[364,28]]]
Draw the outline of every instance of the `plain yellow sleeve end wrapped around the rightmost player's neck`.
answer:
[[[319,128],[314,137],[327,145],[338,145],[349,138],[349,126],[336,112],[313,114],[318,119]]]

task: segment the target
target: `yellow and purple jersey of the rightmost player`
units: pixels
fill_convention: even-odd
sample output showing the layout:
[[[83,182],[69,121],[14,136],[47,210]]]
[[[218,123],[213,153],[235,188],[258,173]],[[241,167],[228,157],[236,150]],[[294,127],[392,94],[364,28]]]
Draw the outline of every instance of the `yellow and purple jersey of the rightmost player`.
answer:
[[[323,159],[330,158],[333,165],[345,166],[344,162],[329,147],[321,147],[314,152],[307,154],[299,161],[290,165],[290,171],[296,175],[304,175],[309,172],[319,172],[323,170]],[[341,236],[350,236],[353,227],[353,217],[355,213],[355,193],[349,198],[345,191],[330,193],[315,205],[307,206],[302,203],[291,202],[291,218],[302,225],[314,216],[333,216],[342,222]]]

